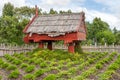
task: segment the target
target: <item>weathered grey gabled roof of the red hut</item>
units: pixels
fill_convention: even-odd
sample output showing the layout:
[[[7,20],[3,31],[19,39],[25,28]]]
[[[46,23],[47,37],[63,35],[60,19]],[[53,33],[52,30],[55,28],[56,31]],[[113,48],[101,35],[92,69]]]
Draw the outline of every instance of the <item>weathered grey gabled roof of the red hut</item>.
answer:
[[[48,34],[54,37],[76,32],[82,23],[84,13],[39,15],[29,25],[26,33]]]

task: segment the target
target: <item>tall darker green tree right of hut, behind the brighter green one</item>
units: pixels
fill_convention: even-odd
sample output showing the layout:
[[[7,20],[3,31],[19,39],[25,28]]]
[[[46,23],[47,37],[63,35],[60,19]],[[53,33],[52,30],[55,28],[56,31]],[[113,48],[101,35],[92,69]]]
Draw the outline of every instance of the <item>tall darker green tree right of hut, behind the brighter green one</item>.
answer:
[[[100,18],[95,18],[91,24],[87,23],[87,29],[88,39],[93,40],[94,43],[100,43],[99,41],[101,41],[101,38],[98,36],[100,32],[110,31],[109,25]]]

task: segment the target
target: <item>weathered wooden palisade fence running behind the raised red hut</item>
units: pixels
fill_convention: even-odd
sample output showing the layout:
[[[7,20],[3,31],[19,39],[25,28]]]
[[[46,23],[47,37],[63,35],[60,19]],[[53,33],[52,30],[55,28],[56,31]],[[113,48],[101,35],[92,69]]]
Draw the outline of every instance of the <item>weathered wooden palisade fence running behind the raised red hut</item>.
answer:
[[[11,44],[0,44],[0,56],[3,56],[4,54],[14,54],[14,53],[25,53],[32,51],[33,49],[37,48],[38,45],[22,45],[22,46],[17,46],[17,45],[11,45]],[[46,48],[46,44],[45,44]],[[56,45],[53,44],[53,49],[62,49],[62,50],[67,50],[67,45]],[[83,51],[85,52],[118,52],[120,53],[120,45],[118,46],[82,46]]]

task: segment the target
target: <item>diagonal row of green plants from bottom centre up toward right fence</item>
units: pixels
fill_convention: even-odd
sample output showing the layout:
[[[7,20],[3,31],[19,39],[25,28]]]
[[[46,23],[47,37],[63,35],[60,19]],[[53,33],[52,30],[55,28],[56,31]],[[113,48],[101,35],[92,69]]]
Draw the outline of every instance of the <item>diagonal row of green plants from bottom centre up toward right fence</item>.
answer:
[[[63,71],[60,71],[58,74],[54,74],[54,76],[56,76],[57,79],[64,79],[63,77],[66,77],[66,78],[71,78],[74,74],[76,74],[76,72],[78,70],[81,70],[81,71],[84,71],[84,68],[86,66],[90,66],[91,64],[94,64],[95,61],[101,59],[102,57],[106,56],[108,53],[105,53],[105,54],[94,54],[92,56],[89,56],[87,57],[87,60],[86,61],[82,61],[81,64],[79,64],[78,66],[76,67],[70,67],[68,68],[68,70],[63,70]],[[95,58],[93,58],[95,57]],[[93,58],[91,60],[91,58]]]

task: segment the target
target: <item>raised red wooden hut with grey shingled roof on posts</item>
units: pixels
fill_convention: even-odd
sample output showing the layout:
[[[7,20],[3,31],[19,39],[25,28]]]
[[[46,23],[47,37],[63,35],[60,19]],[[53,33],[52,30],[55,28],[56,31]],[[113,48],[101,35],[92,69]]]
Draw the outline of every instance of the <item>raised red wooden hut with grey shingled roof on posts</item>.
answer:
[[[40,48],[44,48],[47,42],[47,48],[52,50],[52,42],[63,40],[68,44],[68,51],[74,53],[74,47],[86,40],[85,14],[38,15],[36,7],[36,15],[23,32],[26,34],[25,43],[36,42]]]

